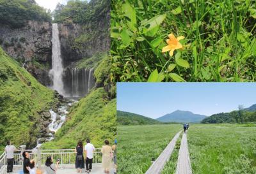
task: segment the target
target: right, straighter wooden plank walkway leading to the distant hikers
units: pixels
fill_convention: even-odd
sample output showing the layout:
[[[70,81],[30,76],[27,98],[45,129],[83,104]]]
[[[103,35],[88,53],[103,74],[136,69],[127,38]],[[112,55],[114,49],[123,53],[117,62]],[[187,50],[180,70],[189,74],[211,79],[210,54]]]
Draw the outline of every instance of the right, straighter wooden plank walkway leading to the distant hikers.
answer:
[[[175,174],[192,174],[186,133],[183,134],[180,142],[179,157]]]

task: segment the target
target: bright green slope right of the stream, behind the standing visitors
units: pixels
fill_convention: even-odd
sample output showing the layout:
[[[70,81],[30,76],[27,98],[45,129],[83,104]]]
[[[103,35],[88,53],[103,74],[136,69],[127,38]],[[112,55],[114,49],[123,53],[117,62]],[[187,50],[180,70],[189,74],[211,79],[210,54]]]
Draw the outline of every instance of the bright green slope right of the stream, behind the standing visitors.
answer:
[[[109,99],[108,93],[99,88],[90,92],[72,106],[67,122],[56,133],[56,138],[44,143],[44,149],[69,149],[77,141],[90,138],[95,147],[104,140],[114,140],[116,134],[116,99]]]

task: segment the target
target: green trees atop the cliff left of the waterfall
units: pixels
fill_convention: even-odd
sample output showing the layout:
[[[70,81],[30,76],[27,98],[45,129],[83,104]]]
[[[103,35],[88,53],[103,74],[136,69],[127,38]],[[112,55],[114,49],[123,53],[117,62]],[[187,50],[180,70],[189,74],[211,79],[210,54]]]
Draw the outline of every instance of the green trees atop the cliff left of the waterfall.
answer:
[[[0,23],[19,28],[26,25],[27,20],[49,21],[49,10],[38,6],[35,0],[0,0]]]

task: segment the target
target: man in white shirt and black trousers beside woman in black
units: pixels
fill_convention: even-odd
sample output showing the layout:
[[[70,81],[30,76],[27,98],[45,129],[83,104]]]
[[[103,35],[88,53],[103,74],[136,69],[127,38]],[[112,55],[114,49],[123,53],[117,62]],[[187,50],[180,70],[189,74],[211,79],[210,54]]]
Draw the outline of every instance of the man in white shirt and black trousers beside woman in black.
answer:
[[[91,144],[90,140],[86,140],[86,145],[84,146],[84,152],[86,156],[85,164],[86,164],[86,172],[90,173],[92,170],[92,159],[93,159],[93,151],[95,151],[95,147]]]

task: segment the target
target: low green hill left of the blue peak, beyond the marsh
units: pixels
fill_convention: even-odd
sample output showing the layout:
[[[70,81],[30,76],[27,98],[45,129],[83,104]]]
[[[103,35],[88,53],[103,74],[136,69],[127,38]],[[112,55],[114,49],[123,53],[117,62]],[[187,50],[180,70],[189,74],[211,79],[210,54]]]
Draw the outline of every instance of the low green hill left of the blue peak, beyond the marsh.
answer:
[[[119,125],[143,125],[143,124],[163,124],[157,120],[138,115],[136,113],[117,110],[117,124]]]

